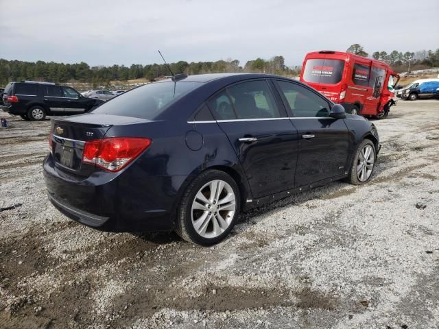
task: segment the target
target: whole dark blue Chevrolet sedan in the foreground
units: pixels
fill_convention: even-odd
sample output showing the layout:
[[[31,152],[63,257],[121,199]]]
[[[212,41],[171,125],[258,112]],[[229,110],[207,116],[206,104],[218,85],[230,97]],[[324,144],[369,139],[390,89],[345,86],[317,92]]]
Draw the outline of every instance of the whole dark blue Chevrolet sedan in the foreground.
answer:
[[[99,230],[176,230],[212,245],[241,210],[370,180],[375,125],[313,88],[263,74],[174,80],[52,119],[43,168],[58,210]]]

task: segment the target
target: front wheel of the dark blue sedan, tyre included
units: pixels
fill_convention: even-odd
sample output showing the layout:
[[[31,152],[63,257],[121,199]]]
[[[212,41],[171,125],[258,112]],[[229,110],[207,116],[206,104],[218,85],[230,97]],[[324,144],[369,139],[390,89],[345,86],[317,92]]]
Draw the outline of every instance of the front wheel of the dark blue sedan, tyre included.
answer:
[[[368,182],[375,168],[375,145],[369,139],[360,143],[355,152],[347,181],[354,185]]]

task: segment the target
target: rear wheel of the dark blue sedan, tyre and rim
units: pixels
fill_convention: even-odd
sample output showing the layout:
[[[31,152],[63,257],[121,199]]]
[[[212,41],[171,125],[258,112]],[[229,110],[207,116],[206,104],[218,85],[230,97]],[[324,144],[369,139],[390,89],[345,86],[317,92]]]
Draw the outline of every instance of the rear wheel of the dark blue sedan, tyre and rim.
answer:
[[[186,241],[213,245],[235,226],[239,208],[235,180],[223,171],[205,171],[191,182],[182,197],[176,232]]]

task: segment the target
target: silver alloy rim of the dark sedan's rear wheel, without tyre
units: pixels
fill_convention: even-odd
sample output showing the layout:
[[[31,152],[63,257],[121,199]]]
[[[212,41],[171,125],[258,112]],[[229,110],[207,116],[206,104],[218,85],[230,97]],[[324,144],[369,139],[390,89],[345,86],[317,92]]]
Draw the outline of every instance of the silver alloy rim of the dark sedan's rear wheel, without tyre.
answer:
[[[236,211],[236,196],[224,180],[212,180],[200,188],[192,202],[191,220],[195,232],[213,239],[230,226]]]

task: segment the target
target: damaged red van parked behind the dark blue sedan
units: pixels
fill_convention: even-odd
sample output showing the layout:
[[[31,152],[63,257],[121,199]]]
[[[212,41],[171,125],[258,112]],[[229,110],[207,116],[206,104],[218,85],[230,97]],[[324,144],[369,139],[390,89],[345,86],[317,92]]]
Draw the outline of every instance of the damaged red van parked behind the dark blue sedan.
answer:
[[[300,81],[315,88],[346,112],[366,117],[387,117],[395,104],[399,80],[388,64],[341,51],[307,53]]]

